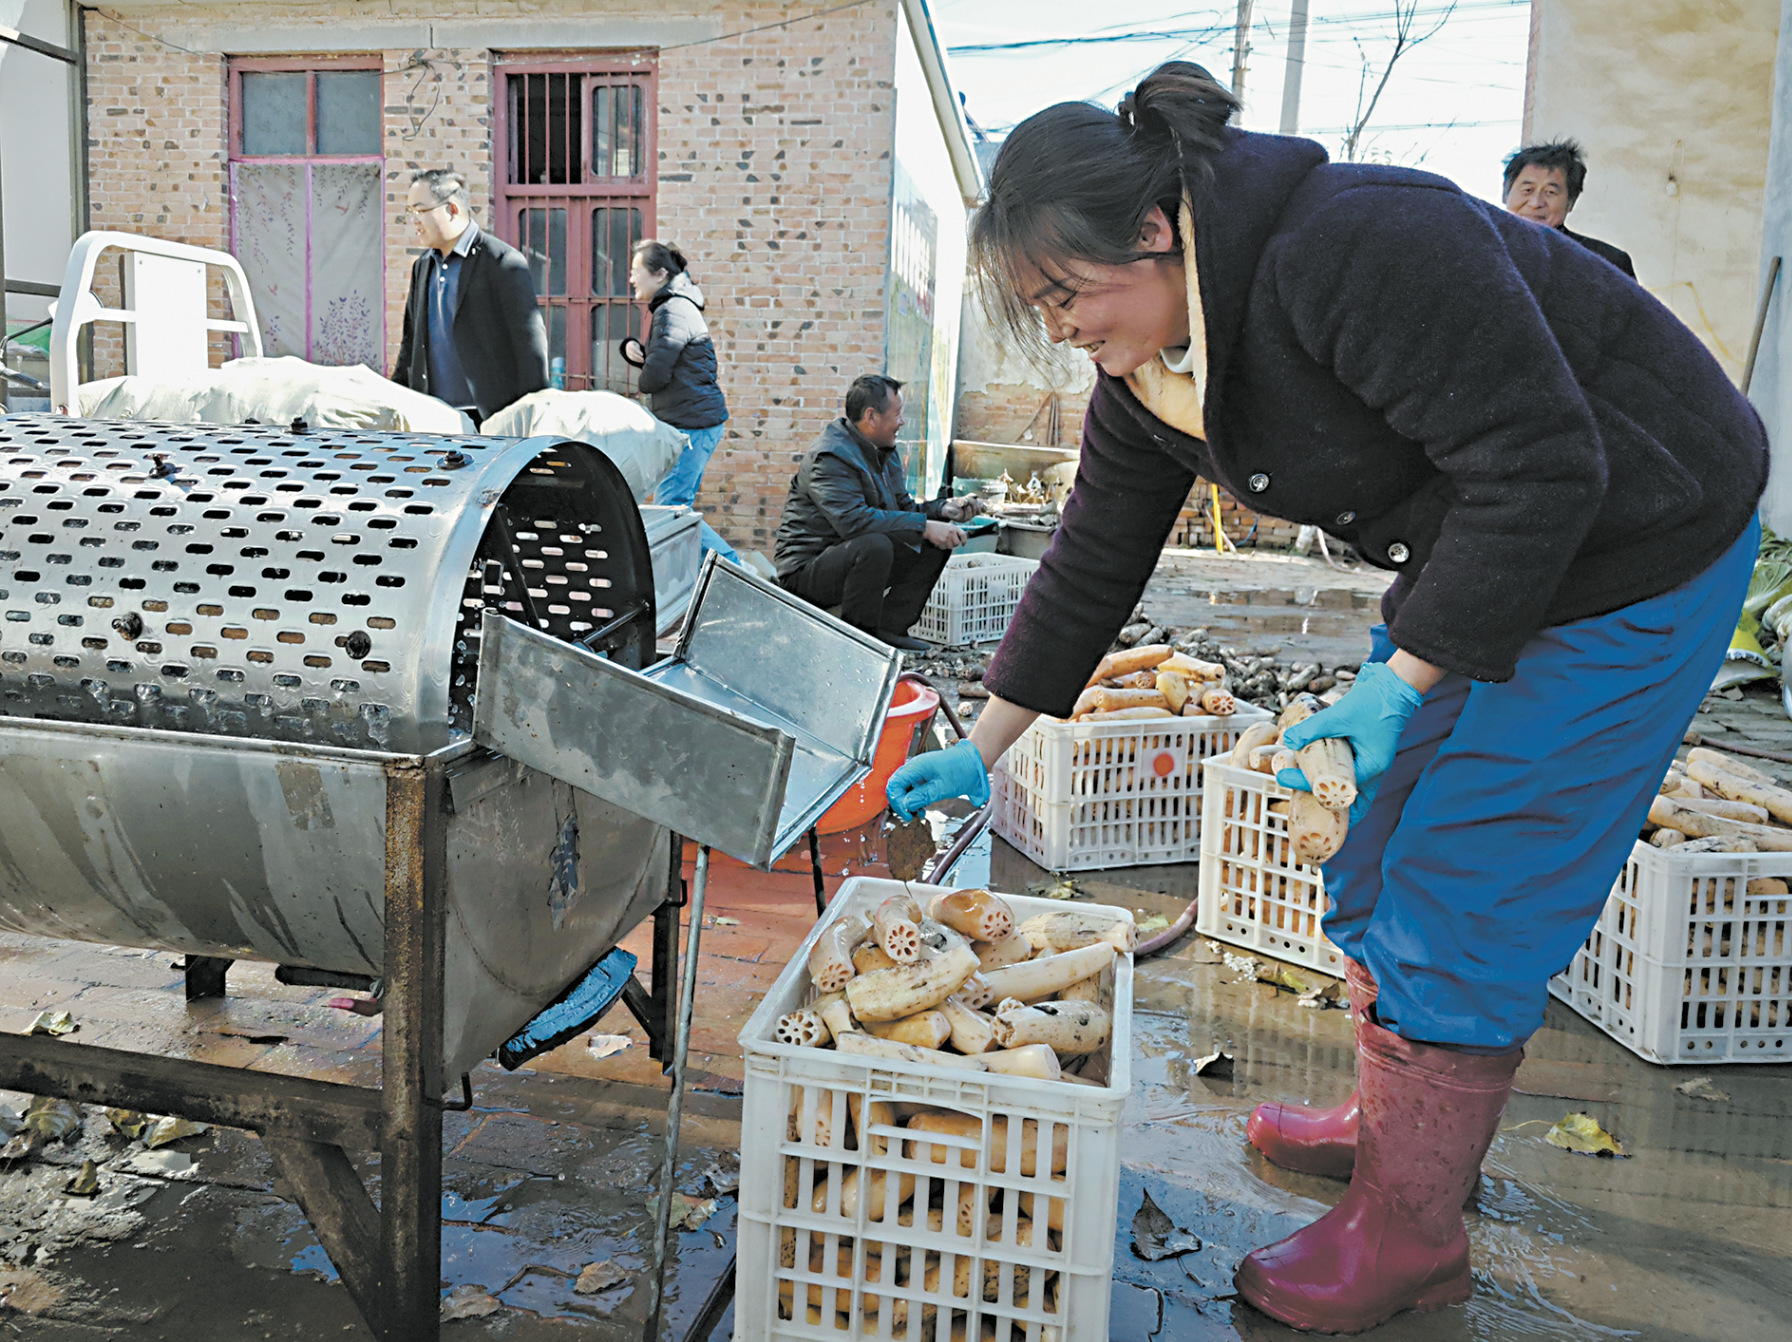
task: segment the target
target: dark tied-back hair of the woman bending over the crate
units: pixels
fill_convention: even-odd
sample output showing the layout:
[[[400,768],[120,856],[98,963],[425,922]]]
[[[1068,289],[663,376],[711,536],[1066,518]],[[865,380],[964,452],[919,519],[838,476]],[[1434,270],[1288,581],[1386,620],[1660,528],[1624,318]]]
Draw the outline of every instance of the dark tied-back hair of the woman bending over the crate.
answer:
[[[1172,226],[1185,195],[1199,208],[1238,106],[1199,65],[1167,61],[1115,111],[1059,102],[1016,125],[989,174],[989,201],[971,222],[971,269],[984,308],[1023,346],[1039,349],[1034,296],[1023,292],[1029,276],[1073,292],[1064,262],[1179,262],[1179,249],[1142,253],[1140,229],[1152,206]]]

